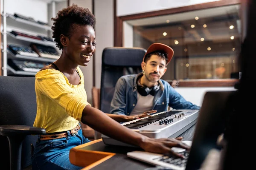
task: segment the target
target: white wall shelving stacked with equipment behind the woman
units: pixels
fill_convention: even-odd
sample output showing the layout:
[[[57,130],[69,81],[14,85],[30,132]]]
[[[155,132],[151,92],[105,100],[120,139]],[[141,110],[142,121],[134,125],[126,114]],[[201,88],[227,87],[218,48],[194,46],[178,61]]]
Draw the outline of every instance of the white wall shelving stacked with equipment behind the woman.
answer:
[[[0,31],[3,37],[1,40],[3,44],[3,65],[1,65],[3,73],[1,71],[0,73],[3,76],[35,76],[42,67],[57,60],[57,57],[49,58],[50,54],[52,54],[49,52],[51,51],[50,49],[55,48],[55,51],[57,51],[55,42],[52,39],[52,24],[49,22],[49,18],[38,17],[41,19],[36,19],[37,17],[34,17],[32,12],[30,12],[30,15],[27,15],[29,13],[24,14],[25,12],[20,12],[20,10],[9,10],[8,13],[6,11],[6,1],[3,0],[3,12],[0,16],[0,19],[3,21]],[[8,3],[9,6],[12,6],[12,3],[9,1]],[[41,5],[46,5],[46,3],[33,4],[36,8],[41,9]],[[49,3],[53,7],[55,6],[55,0],[51,0]],[[48,12],[48,5],[44,6],[44,9],[47,9]],[[55,14],[55,8],[52,8],[52,14]],[[32,47],[30,49],[31,45],[46,46],[41,50],[43,54],[49,54],[49,57],[44,55],[44,57],[40,57],[41,54],[38,54],[40,50],[33,49]]]

